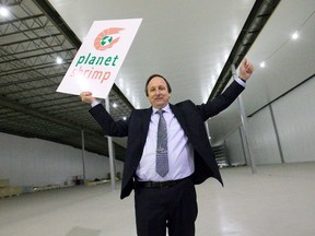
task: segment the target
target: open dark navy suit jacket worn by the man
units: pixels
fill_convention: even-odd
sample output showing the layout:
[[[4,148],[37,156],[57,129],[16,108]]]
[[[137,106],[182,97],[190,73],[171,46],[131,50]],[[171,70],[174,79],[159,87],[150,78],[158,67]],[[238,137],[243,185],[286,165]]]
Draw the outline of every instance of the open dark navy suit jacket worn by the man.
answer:
[[[223,185],[215,156],[209,143],[205,121],[230,106],[243,90],[242,85],[233,81],[221,95],[206,104],[195,105],[191,101],[170,104],[174,116],[194,148],[195,173],[192,180],[195,185],[203,182],[209,177],[214,177]],[[91,108],[90,113],[104,129],[106,135],[128,137],[120,193],[120,198],[124,199],[135,188],[135,175],[145,144],[152,107],[133,109],[127,120],[118,121],[115,121],[101,104]]]

